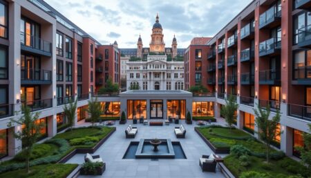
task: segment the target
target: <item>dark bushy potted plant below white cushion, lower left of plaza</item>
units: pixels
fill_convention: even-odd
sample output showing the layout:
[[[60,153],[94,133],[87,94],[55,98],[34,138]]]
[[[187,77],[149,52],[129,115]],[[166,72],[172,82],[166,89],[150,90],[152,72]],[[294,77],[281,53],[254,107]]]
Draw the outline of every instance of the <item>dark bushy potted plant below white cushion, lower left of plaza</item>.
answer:
[[[106,164],[103,162],[83,163],[80,175],[102,175],[106,170]]]

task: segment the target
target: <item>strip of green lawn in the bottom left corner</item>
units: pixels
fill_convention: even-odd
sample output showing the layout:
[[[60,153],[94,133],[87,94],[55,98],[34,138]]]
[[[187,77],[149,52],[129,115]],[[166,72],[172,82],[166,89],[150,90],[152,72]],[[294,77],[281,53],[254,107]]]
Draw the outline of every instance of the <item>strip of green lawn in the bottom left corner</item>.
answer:
[[[14,170],[0,174],[2,178],[65,178],[70,172],[77,168],[77,164],[47,164],[33,166],[30,174],[26,174],[26,169]]]

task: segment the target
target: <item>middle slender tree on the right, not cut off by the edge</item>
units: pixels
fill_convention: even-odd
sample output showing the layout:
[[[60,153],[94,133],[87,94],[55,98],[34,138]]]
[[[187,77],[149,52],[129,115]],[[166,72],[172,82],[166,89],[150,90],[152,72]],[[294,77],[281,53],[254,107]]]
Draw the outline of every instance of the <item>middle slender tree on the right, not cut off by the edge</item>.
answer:
[[[265,109],[257,105],[258,109],[254,109],[256,116],[255,123],[258,127],[259,138],[265,143],[267,163],[270,158],[270,144],[274,141],[275,136],[279,136],[281,132],[276,132],[276,127],[280,122],[280,111],[276,110],[276,115],[270,120],[270,105]]]

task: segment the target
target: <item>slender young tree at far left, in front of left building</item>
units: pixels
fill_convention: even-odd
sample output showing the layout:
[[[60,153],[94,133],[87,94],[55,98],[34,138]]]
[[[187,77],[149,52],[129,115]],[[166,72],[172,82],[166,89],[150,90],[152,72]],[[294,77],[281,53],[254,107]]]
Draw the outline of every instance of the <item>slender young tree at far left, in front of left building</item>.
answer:
[[[36,122],[39,118],[39,112],[35,112],[35,114],[31,113],[27,105],[22,105],[21,111],[23,115],[19,119],[11,118],[8,127],[23,125],[23,129],[16,133],[14,132],[14,137],[23,141],[22,152],[26,157],[26,171],[30,173],[30,155],[32,147],[37,142],[39,136],[41,136],[40,130],[44,125]]]

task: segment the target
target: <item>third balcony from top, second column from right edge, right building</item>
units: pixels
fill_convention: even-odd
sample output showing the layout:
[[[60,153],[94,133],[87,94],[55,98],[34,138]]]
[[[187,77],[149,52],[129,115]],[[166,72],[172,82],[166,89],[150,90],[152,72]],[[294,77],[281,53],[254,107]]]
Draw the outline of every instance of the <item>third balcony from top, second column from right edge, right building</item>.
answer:
[[[259,84],[281,84],[280,71],[267,70],[259,71]]]

